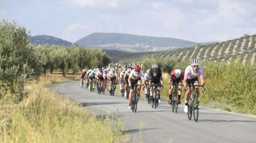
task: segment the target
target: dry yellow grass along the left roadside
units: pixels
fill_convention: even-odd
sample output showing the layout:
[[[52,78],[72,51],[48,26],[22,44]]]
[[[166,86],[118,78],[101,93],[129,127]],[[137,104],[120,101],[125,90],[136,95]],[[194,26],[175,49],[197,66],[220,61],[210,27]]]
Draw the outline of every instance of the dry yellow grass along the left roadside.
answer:
[[[45,88],[76,79],[42,76],[27,84],[26,100],[19,104],[0,101],[0,142],[127,142],[117,118],[97,118]]]

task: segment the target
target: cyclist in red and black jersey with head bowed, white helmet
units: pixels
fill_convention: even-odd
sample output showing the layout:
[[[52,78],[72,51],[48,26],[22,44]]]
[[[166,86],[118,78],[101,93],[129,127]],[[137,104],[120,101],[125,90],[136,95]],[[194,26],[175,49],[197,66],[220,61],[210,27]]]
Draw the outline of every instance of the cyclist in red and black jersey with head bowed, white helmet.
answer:
[[[172,104],[172,94],[173,94],[173,89],[174,89],[174,84],[175,82],[178,84],[178,96],[179,96],[179,101],[178,104],[180,104],[180,96],[181,96],[181,85],[182,85],[182,81],[184,79],[184,72],[181,69],[174,69],[173,71],[170,72],[169,75],[169,85],[170,85],[170,89],[169,89],[169,102],[168,104],[171,105]]]

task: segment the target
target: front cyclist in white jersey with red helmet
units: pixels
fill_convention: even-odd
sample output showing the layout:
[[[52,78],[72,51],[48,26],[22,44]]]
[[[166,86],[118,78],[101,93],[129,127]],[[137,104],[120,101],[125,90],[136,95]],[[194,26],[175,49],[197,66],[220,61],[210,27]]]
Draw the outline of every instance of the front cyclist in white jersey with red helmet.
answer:
[[[129,106],[128,108],[131,109],[132,106],[132,94],[133,94],[133,88],[134,85],[137,83],[138,84],[138,94],[140,97],[140,89],[141,89],[141,81],[144,82],[144,75],[143,72],[140,70],[140,66],[139,65],[135,65],[134,69],[131,71],[129,78],[128,78],[128,82],[129,82],[129,86],[130,88],[130,94],[129,94]]]

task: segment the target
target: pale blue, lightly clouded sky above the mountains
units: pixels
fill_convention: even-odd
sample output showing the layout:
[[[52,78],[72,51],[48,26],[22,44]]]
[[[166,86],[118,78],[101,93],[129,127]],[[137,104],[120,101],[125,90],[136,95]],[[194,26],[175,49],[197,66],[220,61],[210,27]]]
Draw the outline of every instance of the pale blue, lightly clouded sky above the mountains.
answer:
[[[0,20],[75,42],[95,32],[193,42],[256,34],[254,0],[0,0]]]

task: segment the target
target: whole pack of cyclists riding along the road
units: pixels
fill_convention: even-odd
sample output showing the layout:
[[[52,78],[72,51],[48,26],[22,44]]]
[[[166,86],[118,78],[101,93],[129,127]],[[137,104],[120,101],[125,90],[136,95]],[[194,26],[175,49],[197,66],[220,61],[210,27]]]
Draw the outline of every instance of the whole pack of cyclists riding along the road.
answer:
[[[145,89],[150,88],[150,92],[148,93],[147,90],[144,90],[144,93],[147,96],[150,97],[150,99],[153,99],[153,87],[154,85],[157,85],[157,96],[158,96],[158,104],[160,104],[160,97],[161,97],[161,88],[163,88],[163,76],[162,71],[158,67],[157,64],[153,64],[150,69],[145,69],[144,74],[144,65],[126,65],[124,64],[123,67],[121,67],[121,64],[116,64],[115,66],[112,66],[112,64],[109,64],[108,68],[97,68],[97,69],[90,69],[86,71],[85,69],[82,70],[81,73],[81,84],[82,86],[84,81],[89,80],[89,89],[95,88],[95,85],[99,85],[104,82],[103,85],[106,85],[106,83],[109,81],[109,92],[112,92],[112,84],[117,85],[120,84],[120,90],[123,89],[124,91],[124,97],[126,98],[129,96],[129,102],[128,102],[128,108],[131,109],[131,102],[132,102],[132,94],[134,91],[134,88],[137,88],[138,95],[140,97],[140,91],[141,86],[143,86]],[[182,87],[184,87],[185,90],[185,105],[184,105],[184,112],[188,112],[188,95],[190,93],[189,85],[199,85],[198,76],[200,77],[202,90],[205,90],[204,86],[204,74],[203,74],[203,68],[199,66],[199,61],[197,59],[193,59],[190,62],[190,65],[188,65],[185,69],[185,72],[181,69],[173,69],[170,70],[168,73],[168,84],[169,84],[169,101],[168,104],[172,105],[172,94],[174,91],[175,84],[178,86],[178,104],[181,104],[181,94],[182,94]],[[91,83],[93,87],[90,87]],[[123,86],[124,84],[124,86]],[[128,86],[130,87],[130,91],[127,91]],[[136,87],[135,87],[136,86]],[[104,88],[106,89],[106,87]],[[196,86],[196,93],[198,95],[198,101],[200,97],[199,87]],[[129,94],[127,94],[129,92]],[[128,98],[128,97],[127,97]]]

